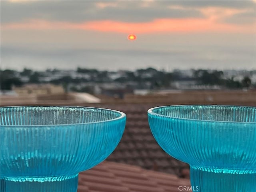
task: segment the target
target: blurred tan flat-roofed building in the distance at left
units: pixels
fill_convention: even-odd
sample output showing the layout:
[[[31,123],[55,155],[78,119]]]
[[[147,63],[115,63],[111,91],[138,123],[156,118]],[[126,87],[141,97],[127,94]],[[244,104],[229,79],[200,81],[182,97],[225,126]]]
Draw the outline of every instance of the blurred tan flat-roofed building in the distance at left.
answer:
[[[13,86],[12,90],[18,95],[46,95],[46,94],[62,94],[64,89],[62,86],[53,84],[26,84],[22,87]]]

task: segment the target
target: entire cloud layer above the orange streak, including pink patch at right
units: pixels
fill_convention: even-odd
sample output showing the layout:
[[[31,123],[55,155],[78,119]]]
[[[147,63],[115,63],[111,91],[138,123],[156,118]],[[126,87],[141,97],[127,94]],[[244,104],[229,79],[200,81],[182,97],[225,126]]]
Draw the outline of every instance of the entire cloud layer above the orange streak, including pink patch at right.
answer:
[[[215,19],[230,24],[255,20],[254,1],[1,1],[1,26],[30,20],[83,24],[146,23],[158,19]],[[255,22],[254,22],[255,23]]]

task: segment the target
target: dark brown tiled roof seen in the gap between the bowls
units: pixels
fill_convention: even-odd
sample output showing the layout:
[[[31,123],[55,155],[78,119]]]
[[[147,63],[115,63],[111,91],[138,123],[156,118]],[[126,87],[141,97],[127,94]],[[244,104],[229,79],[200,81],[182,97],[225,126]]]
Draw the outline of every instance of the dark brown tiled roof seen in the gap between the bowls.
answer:
[[[184,169],[188,164],[172,158],[156,142],[148,125],[147,110],[154,104],[130,104],[101,107],[120,110],[127,115],[126,128],[116,150],[107,158],[108,161],[140,166],[180,177],[188,177]]]

